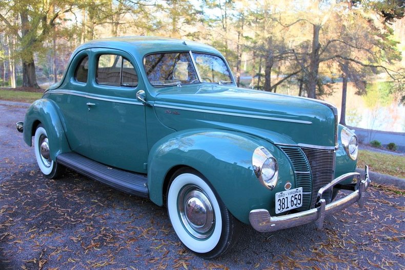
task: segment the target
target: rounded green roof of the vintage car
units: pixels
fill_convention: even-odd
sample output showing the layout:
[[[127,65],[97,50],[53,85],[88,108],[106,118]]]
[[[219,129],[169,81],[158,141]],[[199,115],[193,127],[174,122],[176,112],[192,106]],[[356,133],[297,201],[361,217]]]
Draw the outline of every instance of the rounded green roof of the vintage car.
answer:
[[[88,48],[112,48],[134,53],[138,57],[162,51],[200,51],[220,54],[211,46],[193,41],[157,36],[122,36],[103,38],[80,45],[77,51]]]

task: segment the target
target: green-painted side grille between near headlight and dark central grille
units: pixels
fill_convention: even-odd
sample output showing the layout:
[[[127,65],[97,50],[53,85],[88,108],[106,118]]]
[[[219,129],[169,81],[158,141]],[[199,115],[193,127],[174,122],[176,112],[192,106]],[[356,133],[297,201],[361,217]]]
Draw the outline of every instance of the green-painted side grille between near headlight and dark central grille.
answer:
[[[312,178],[307,158],[297,146],[279,145],[279,147],[286,153],[293,166],[295,187],[302,187],[302,206],[297,210],[308,210],[311,206]]]

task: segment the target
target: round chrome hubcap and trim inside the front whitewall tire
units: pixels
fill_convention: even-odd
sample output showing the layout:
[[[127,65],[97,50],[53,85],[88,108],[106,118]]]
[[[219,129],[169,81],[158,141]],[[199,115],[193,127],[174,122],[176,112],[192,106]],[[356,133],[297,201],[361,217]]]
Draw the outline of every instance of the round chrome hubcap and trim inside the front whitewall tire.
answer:
[[[215,216],[208,196],[195,185],[187,185],[178,196],[181,222],[188,233],[198,239],[208,238],[214,227]]]

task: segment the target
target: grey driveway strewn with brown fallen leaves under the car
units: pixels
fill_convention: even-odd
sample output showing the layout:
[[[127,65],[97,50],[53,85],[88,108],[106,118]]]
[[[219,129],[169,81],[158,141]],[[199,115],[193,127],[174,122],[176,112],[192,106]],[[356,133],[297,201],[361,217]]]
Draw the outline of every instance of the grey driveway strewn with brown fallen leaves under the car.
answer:
[[[14,127],[25,110],[0,105],[0,269],[405,268],[405,190],[373,184],[365,208],[327,217],[323,230],[246,225],[229,254],[203,260],[165,208],[70,170],[44,178]]]

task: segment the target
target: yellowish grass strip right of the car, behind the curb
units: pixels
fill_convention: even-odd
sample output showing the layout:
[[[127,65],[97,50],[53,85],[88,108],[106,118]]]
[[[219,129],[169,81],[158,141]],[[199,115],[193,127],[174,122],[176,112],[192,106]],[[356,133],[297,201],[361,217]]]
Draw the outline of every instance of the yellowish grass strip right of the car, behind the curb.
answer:
[[[364,168],[366,164],[371,171],[405,178],[405,157],[359,150],[357,167]]]

